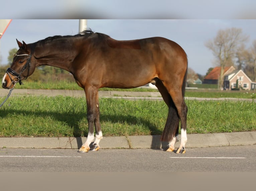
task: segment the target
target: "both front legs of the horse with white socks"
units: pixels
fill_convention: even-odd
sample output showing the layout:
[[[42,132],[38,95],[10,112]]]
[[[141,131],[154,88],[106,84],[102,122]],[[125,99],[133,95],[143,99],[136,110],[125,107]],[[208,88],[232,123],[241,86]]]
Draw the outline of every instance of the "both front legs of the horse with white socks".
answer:
[[[88,136],[86,142],[81,146],[78,152],[88,152],[89,150],[99,150],[99,142],[102,139],[100,127],[100,109],[98,88],[93,86],[85,87],[86,102],[87,102],[87,121],[88,121]],[[90,144],[94,140],[94,126],[96,129],[96,140],[92,148]]]

